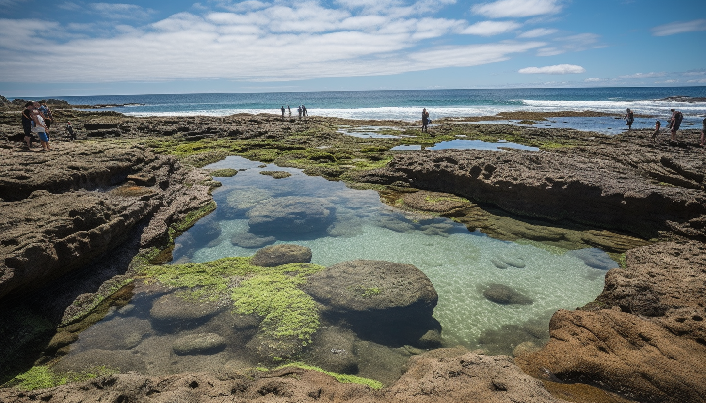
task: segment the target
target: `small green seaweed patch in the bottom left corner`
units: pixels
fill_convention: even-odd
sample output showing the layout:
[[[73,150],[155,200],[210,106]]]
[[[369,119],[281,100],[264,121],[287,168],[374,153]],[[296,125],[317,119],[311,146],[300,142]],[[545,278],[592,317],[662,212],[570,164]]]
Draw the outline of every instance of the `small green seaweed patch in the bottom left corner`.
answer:
[[[119,373],[116,368],[107,366],[92,366],[80,372],[54,372],[49,366],[34,366],[20,373],[0,387],[11,387],[17,390],[47,389],[70,382],[83,382],[102,375]]]

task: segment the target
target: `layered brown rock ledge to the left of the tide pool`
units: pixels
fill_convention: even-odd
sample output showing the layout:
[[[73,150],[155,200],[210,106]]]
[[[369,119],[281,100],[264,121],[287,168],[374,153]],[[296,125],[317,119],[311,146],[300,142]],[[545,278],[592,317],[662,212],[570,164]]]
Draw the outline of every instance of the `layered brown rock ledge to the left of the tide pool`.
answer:
[[[169,224],[211,200],[206,186],[181,184],[208,176],[186,172],[169,157],[97,143],[56,148],[0,149],[0,299],[84,267],[143,219],[152,222],[141,246],[164,244]],[[128,181],[112,189],[133,174],[152,186]]]

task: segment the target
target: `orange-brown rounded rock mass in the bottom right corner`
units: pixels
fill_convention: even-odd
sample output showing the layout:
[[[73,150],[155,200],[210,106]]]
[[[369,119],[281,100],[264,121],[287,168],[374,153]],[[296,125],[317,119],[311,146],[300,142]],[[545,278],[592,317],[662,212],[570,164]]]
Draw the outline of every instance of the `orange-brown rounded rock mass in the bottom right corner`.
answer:
[[[706,402],[706,245],[659,243],[627,253],[597,301],[609,309],[554,314],[528,373],[602,385],[641,402]]]

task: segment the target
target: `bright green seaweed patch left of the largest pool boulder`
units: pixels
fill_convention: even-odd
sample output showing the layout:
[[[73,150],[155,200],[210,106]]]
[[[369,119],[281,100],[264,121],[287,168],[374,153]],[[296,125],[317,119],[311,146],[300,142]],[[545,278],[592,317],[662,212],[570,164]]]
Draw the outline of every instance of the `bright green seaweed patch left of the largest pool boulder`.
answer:
[[[282,348],[311,344],[318,330],[318,310],[311,296],[299,289],[306,275],[325,267],[292,263],[277,267],[250,264],[251,258],[224,258],[206,263],[149,266],[140,275],[154,277],[168,287],[183,288],[186,299],[233,300],[234,311],[263,318],[263,334],[276,339]],[[234,279],[241,281],[233,281]]]

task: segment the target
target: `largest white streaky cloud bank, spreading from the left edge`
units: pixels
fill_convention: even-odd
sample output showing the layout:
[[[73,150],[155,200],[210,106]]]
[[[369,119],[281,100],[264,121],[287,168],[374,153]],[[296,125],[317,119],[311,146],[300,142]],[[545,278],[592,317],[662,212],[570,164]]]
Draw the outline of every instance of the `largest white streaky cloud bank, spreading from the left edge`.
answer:
[[[432,3],[438,1],[428,2]],[[120,25],[114,28],[117,33],[113,37],[64,42],[36,41],[47,29],[54,35],[66,31],[56,24],[40,20],[8,20],[12,23],[6,24],[0,20],[8,32],[14,32],[0,36],[0,52],[4,54],[0,78],[98,83],[372,76],[489,64],[545,46],[534,41],[440,46],[423,40],[460,32],[467,22],[356,13],[325,8],[323,3],[284,4],[242,13],[177,13],[139,28]],[[27,41],[39,43],[33,48],[35,52],[23,50]],[[39,65],[40,61],[52,66],[51,75],[38,78],[18,68]]]

